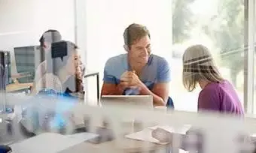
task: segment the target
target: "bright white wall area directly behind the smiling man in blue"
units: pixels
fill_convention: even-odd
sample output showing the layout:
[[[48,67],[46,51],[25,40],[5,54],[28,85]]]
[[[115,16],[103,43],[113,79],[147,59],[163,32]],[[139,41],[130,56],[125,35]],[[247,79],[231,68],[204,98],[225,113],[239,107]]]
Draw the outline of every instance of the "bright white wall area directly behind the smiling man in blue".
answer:
[[[77,0],[78,45],[86,45],[87,68],[99,71],[111,56],[125,53],[123,31],[141,23],[151,31],[154,53],[170,59],[172,46],[172,4],[170,0]],[[96,79],[87,80],[87,98],[96,100]]]

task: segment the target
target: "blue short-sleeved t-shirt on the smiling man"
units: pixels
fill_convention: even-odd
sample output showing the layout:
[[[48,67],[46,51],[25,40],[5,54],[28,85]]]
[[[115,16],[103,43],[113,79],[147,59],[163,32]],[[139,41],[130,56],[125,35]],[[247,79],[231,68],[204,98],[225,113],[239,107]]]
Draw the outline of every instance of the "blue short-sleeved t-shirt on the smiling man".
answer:
[[[120,83],[121,75],[126,71],[131,71],[127,54],[109,58],[105,64],[103,81],[117,85]],[[150,90],[153,89],[155,83],[169,83],[170,68],[168,62],[165,58],[151,54],[139,79]],[[126,89],[123,95],[139,95],[139,92],[136,89]]]

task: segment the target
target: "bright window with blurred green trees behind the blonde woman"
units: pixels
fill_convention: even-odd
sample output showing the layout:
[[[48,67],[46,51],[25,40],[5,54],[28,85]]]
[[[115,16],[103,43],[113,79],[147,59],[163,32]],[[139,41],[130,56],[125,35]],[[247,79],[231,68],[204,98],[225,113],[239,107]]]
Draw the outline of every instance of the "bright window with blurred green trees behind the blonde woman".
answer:
[[[244,30],[243,1],[172,1],[172,87],[175,89],[171,94],[178,110],[197,110],[200,88],[187,93],[181,74],[184,49],[195,43],[212,51],[221,74],[235,86],[243,101]]]

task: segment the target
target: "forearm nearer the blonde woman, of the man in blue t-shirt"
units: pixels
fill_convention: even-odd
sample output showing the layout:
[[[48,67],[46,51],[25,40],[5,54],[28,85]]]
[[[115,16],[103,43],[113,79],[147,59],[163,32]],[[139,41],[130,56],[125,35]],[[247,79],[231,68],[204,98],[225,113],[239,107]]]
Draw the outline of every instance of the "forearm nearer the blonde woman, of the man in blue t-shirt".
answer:
[[[155,95],[145,85],[141,86],[140,94],[141,95],[151,95],[153,97],[154,107],[166,106],[165,102],[163,101],[163,98],[160,98],[160,96]]]

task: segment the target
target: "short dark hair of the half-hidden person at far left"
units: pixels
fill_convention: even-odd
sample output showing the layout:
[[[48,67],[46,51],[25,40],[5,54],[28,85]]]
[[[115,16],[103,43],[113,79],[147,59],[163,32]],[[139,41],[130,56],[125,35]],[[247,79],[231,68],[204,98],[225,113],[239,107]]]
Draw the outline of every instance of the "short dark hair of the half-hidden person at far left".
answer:
[[[49,29],[44,31],[44,34],[40,37],[40,46],[44,45],[44,42],[55,43],[62,40],[62,36],[57,30]]]

